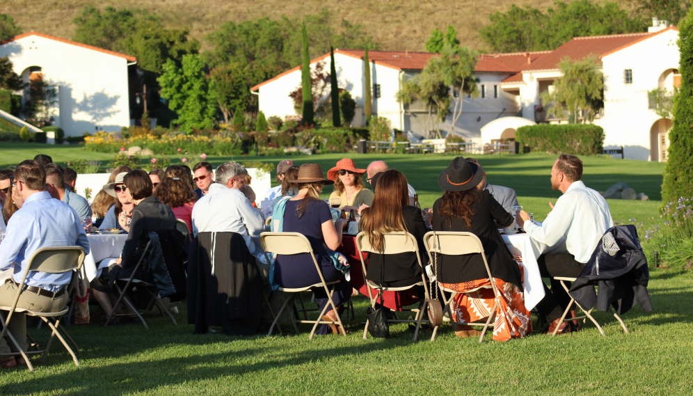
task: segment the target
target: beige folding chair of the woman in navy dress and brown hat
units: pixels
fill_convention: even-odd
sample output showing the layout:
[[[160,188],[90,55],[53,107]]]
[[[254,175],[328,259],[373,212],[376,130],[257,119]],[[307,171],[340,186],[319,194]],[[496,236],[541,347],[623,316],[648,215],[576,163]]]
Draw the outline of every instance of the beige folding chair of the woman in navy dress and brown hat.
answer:
[[[342,330],[342,334],[346,335],[346,331],[344,331],[344,325],[342,324],[342,319],[340,318],[340,315],[337,315],[337,306],[335,306],[335,302],[332,300],[335,288],[333,286],[332,290],[330,290],[330,288],[328,287],[329,285],[335,285],[336,283],[340,283],[340,281],[325,281],[325,278],[322,275],[322,270],[319,264],[317,263],[317,260],[315,259],[315,255],[313,253],[312,246],[310,246],[310,241],[308,241],[308,238],[306,238],[302,234],[299,234],[298,232],[262,232],[262,234],[260,234],[260,246],[262,246],[262,250],[265,252],[272,252],[280,255],[296,255],[301,253],[310,253],[310,257],[313,260],[313,264],[315,264],[315,270],[320,276],[320,283],[315,283],[314,285],[295,288],[278,288],[278,290],[281,292],[299,293],[305,292],[305,290],[310,290],[313,287],[323,287],[327,294],[328,303],[325,305],[325,308],[323,308],[322,312],[320,312],[317,320],[297,320],[298,318],[292,317],[291,320],[292,324],[294,325],[294,330],[296,331],[296,334],[299,333],[298,326],[296,326],[297,323],[312,323],[314,325],[312,331],[310,331],[310,335],[308,336],[309,340],[312,340],[318,324],[338,324],[340,326],[340,329]],[[267,333],[267,335],[272,335],[272,330],[274,329],[274,326],[277,324],[277,321],[282,315],[282,312],[285,310],[285,308],[287,308],[288,302],[288,300],[284,301],[284,305],[282,305],[282,308],[279,310],[279,312],[277,312],[274,322],[272,326],[270,326],[269,333]],[[321,320],[321,318],[325,315],[325,312],[327,312],[327,309],[330,306],[335,311],[337,322]]]

